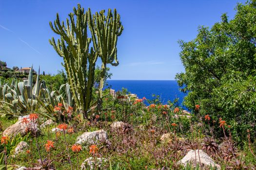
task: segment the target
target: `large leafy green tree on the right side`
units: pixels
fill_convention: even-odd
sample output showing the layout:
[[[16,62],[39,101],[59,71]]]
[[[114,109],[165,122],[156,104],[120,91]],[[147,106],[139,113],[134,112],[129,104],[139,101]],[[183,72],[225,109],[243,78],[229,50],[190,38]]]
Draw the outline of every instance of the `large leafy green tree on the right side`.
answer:
[[[237,4],[236,16],[221,16],[197,37],[179,41],[185,72],[176,75],[184,104],[201,114],[227,120],[238,136],[256,128],[256,0]],[[255,135],[255,134],[254,134]]]

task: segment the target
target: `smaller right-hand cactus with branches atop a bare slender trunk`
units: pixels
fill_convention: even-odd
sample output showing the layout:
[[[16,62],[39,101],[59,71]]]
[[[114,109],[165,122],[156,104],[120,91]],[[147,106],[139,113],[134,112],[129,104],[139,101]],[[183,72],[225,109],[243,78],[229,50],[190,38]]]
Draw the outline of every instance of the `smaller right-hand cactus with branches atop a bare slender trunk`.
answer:
[[[123,26],[120,21],[120,15],[114,9],[114,14],[111,9],[108,10],[107,16],[104,15],[105,10],[96,12],[91,15],[88,9],[88,24],[92,34],[94,48],[97,49],[98,55],[101,58],[101,72],[98,89],[98,112],[101,112],[102,104],[102,88],[104,85],[104,77],[106,74],[106,65],[118,66],[117,59],[117,41],[118,36],[122,34]]]

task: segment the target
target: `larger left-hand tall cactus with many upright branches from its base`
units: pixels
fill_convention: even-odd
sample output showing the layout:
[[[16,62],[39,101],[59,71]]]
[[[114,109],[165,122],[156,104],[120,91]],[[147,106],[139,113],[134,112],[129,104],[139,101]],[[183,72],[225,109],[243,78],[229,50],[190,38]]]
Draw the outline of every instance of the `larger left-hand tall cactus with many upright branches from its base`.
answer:
[[[88,13],[84,12],[80,4],[78,4],[78,9],[74,8],[74,13],[69,14],[66,25],[64,21],[60,22],[57,13],[54,26],[50,22],[50,27],[54,33],[60,35],[60,39],[57,44],[54,38],[49,40],[59,56],[63,57],[64,65],[62,65],[65,67],[68,83],[76,106],[83,113],[84,118],[87,118],[92,99],[95,63],[98,58],[98,52],[93,48],[89,49],[91,38],[87,36],[87,16]]]

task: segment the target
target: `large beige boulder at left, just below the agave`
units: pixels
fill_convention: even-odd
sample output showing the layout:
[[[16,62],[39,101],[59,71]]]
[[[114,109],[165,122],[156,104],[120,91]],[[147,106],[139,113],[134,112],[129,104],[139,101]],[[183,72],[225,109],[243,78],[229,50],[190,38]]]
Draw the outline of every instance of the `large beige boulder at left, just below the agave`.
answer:
[[[33,122],[29,119],[28,119],[29,122],[27,124],[22,122],[23,118],[27,118],[27,117],[28,116],[19,118],[19,120],[16,123],[9,126],[7,129],[3,131],[2,136],[14,137],[18,134],[20,134],[21,136],[25,136],[26,134],[28,134],[29,131],[39,132],[37,123],[35,123],[35,127],[34,127]]]

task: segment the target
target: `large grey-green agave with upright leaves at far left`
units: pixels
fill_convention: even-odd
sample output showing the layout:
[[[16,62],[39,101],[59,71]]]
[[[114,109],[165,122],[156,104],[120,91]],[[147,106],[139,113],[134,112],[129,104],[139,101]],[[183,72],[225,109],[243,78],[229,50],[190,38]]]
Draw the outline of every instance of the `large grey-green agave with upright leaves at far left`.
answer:
[[[39,81],[39,72],[35,85],[33,85],[33,66],[30,68],[28,79],[19,82],[18,85],[11,85],[10,92],[5,94],[7,101],[2,101],[2,103],[8,104],[11,108],[21,114],[29,113],[38,109],[38,101],[36,100],[39,96],[41,86],[45,86],[43,80]],[[6,87],[7,88],[7,87]]]

